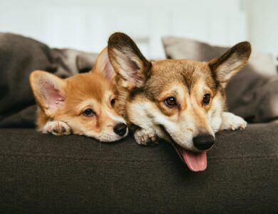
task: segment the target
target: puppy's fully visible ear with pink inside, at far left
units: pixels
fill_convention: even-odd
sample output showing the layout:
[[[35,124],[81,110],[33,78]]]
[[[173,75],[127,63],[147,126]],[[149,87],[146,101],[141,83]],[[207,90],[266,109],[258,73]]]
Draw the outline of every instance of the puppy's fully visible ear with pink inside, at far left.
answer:
[[[29,80],[36,102],[47,116],[64,106],[66,81],[46,71],[33,71]]]

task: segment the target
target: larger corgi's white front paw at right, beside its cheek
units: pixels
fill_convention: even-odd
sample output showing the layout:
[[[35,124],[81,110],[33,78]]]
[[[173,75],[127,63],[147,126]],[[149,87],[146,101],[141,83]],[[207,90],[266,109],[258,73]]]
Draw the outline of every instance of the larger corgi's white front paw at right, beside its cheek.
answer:
[[[221,130],[244,129],[246,126],[247,122],[240,116],[236,116],[230,112],[223,112]]]

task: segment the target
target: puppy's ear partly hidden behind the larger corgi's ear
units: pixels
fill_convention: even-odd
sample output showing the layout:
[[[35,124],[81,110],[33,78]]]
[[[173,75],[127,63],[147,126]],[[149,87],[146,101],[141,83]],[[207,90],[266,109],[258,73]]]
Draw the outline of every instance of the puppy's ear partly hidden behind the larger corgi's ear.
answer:
[[[98,55],[98,58],[96,58],[93,72],[101,73],[108,81],[113,81],[115,78],[115,70],[110,63],[107,47],[105,47],[105,49],[101,51],[101,54]]]

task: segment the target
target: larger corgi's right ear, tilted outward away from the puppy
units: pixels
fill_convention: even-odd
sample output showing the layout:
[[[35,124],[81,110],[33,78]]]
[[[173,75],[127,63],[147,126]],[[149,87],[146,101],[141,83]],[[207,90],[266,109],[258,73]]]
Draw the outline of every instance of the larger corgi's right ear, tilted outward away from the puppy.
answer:
[[[209,62],[210,69],[217,81],[225,87],[232,76],[240,71],[248,62],[251,45],[247,41],[236,44],[219,58]]]

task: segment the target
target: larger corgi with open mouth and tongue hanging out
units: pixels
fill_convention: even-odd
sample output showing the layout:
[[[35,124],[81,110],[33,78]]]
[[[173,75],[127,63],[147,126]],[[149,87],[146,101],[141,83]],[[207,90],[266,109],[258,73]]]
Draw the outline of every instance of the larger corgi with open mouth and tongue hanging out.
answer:
[[[108,41],[118,87],[116,107],[140,145],[158,138],[175,147],[188,168],[207,168],[207,154],[220,130],[244,129],[246,121],[225,106],[225,86],[251,54],[249,42],[233,46],[208,62],[188,59],[148,61],[129,36]]]

